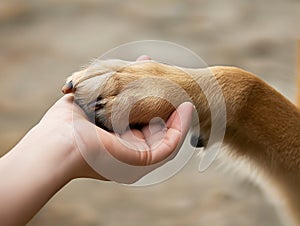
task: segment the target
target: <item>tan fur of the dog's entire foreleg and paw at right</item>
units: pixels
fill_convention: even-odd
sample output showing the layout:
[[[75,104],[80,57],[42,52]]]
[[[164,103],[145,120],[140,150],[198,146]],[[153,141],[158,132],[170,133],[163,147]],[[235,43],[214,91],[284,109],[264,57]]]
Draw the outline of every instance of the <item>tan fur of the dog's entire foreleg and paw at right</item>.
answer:
[[[121,122],[132,98],[149,92],[173,100],[174,106],[163,98],[142,99],[131,109],[130,123],[145,124],[154,116],[166,120],[175,107],[188,100],[179,86],[196,106],[205,142],[209,139],[211,122],[204,93],[214,95],[210,87],[212,73],[226,103],[224,143],[231,147],[233,155],[249,160],[263,171],[286,200],[295,224],[300,225],[300,112],[292,103],[258,77],[235,67],[188,69],[153,61],[113,64],[118,66],[109,68],[107,62],[98,62],[92,73],[85,69],[69,78],[74,81],[77,102],[86,111],[89,111],[86,104],[100,95],[103,108],[96,117],[111,129],[110,113],[114,105],[118,106],[114,120]],[[110,76],[100,79],[103,73],[109,72],[112,72]],[[87,77],[92,79],[85,80]],[[160,79],[155,82],[153,78]],[[201,90],[196,81],[206,90]],[[215,106],[218,101],[215,100]]]

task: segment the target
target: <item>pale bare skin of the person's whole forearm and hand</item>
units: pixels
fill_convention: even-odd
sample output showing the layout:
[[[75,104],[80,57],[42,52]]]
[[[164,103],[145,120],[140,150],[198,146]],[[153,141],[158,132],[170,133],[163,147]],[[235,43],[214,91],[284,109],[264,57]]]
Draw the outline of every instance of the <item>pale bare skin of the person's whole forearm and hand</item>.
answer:
[[[96,173],[78,150],[78,142],[91,154],[108,151],[118,160],[131,165],[161,162],[182,143],[192,118],[193,105],[183,103],[170,116],[166,128],[149,133],[147,126],[132,130],[134,142],[147,154],[130,150],[113,133],[96,127],[87,120],[72,95],[59,99],[23,139],[0,158],[0,222],[1,225],[25,225],[67,183],[76,178],[107,180]],[[97,138],[79,131],[75,141],[73,123],[96,131]],[[156,136],[157,133],[163,136]],[[126,139],[126,134],[123,139]],[[99,148],[99,140],[101,139]],[[153,146],[161,139],[160,145]],[[130,138],[128,139],[130,141]],[[76,143],[77,142],[77,143]],[[147,172],[145,172],[146,174]],[[136,177],[138,180],[142,175]]]

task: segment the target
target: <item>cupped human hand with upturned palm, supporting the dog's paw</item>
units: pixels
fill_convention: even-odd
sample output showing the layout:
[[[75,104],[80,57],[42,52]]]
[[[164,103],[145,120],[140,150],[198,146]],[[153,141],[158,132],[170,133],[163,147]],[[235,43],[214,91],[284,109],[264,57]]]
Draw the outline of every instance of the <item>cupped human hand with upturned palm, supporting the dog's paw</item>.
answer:
[[[104,164],[111,169],[115,159],[128,165],[129,168],[132,165],[151,165],[140,167],[138,170],[135,168],[129,172],[127,170],[125,175],[124,168],[121,167],[119,172],[114,173],[119,175],[118,177],[107,178],[132,183],[165,163],[164,160],[168,156],[176,154],[189,129],[192,110],[192,104],[183,103],[168,119],[166,128],[152,124],[141,130],[133,129],[117,136],[88,121],[82,109],[73,103],[73,96],[65,95],[49,109],[39,126],[60,138],[57,141],[60,149],[75,153],[76,158],[70,170],[71,178],[88,177],[105,180],[107,173],[104,172],[105,175],[99,173],[105,168]],[[115,159],[109,158],[112,156]],[[106,162],[103,162],[103,159]],[[100,162],[101,166],[93,164],[95,161]],[[89,163],[92,163],[92,166]],[[107,170],[104,169],[106,172]]]

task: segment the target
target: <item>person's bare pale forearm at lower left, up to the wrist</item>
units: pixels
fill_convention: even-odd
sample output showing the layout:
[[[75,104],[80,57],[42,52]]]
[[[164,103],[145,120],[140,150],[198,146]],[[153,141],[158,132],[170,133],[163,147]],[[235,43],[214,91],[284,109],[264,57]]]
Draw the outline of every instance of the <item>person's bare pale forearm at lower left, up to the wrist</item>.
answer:
[[[74,152],[38,127],[0,159],[1,225],[26,224],[72,178]]]

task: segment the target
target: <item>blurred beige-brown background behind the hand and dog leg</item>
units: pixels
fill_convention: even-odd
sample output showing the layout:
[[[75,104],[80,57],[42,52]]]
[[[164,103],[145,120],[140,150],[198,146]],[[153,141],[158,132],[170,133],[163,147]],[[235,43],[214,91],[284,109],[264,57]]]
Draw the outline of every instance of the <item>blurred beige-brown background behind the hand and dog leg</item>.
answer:
[[[299,12],[299,0],[2,0],[0,154],[62,95],[68,75],[137,40],[175,42],[208,65],[242,67],[294,101]],[[198,163],[144,188],[73,181],[28,225],[281,225],[251,182],[215,166],[199,173]]]

